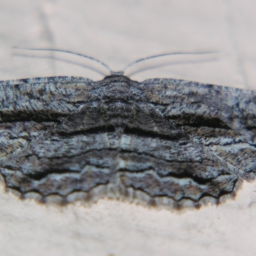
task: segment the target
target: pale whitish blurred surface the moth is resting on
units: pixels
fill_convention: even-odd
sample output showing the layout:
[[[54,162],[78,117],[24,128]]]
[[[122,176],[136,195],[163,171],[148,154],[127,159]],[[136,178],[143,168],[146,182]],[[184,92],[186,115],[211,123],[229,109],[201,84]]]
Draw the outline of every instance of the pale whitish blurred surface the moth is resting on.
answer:
[[[218,51],[151,60],[127,74],[139,81],[175,77],[256,89],[255,12],[253,0],[0,0],[0,79],[101,79],[108,74],[76,56],[18,51],[12,46],[76,51],[113,70],[163,52]],[[179,213],[109,200],[92,207],[40,205],[21,201],[1,186],[0,252],[255,255],[255,191],[256,182],[245,182],[236,200]]]

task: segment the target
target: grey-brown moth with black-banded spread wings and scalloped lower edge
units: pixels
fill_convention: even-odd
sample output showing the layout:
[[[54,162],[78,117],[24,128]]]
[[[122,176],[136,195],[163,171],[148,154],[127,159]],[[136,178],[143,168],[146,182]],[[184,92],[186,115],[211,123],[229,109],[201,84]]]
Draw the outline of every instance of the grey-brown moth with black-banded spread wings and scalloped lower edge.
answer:
[[[0,120],[0,173],[23,198],[180,209],[255,179],[251,90],[124,72],[1,81]]]

